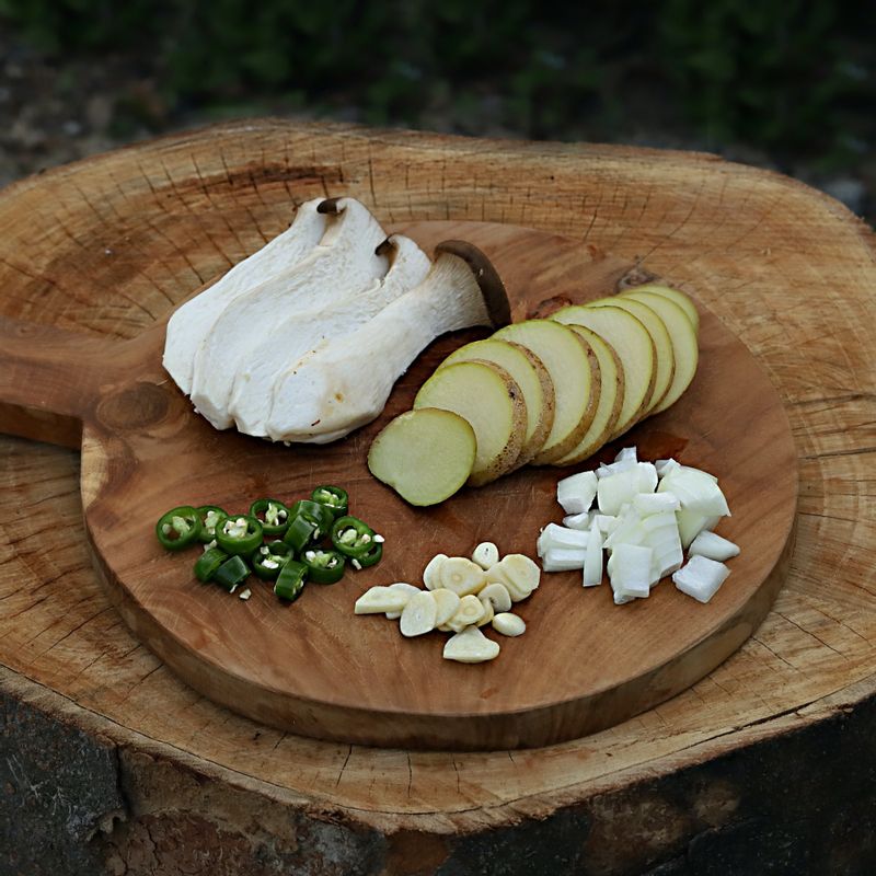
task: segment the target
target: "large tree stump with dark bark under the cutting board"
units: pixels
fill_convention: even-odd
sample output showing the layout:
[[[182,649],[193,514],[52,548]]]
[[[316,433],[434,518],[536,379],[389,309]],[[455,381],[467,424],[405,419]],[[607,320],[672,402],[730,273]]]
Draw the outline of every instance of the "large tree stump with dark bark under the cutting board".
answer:
[[[0,869],[872,869],[872,232],[804,185],[711,155],[263,120],[0,193],[0,313],[136,337],[283,230],[290,201],[323,195],[357,197],[388,224],[574,237],[691,290],[791,418],[800,498],[787,581],[740,652],[612,729],[514,752],[319,742],[177,681],[97,585],[78,454],[0,438]]]

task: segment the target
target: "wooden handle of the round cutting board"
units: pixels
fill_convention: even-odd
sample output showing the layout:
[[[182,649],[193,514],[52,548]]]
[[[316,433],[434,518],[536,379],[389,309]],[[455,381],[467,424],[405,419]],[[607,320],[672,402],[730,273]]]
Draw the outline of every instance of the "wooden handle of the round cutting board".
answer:
[[[118,345],[0,316],[0,433],[79,449]]]

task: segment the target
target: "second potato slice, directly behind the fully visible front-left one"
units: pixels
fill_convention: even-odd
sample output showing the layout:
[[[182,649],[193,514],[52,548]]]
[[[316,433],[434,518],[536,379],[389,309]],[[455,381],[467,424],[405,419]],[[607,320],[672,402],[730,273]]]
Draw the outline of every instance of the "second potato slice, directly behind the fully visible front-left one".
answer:
[[[492,362],[457,362],[439,368],[420,388],[414,410],[438,407],[469,422],[476,438],[470,486],[482,486],[510,471],[526,434],[523,393],[511,376]],[[433,458],[427,468],[435,465]]]

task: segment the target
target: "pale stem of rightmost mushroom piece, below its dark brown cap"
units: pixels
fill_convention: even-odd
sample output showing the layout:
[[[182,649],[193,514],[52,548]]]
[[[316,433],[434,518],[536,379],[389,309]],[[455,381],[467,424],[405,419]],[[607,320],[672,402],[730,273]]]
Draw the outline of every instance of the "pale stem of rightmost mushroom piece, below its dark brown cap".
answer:
[[[342,438],[380,414],[395,381],[438,335],[491,322],[472,268],[440,253],[416,289],[278,377],[268,435],[316,443]]]

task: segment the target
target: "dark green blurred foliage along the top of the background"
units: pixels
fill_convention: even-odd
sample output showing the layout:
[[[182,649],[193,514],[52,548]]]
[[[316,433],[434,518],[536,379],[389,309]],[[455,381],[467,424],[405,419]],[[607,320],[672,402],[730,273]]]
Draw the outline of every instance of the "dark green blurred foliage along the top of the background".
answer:
[[[807,0],[0,0],[0,24],[56,56],[127,54],[172,108],[281,97],[370,124],[580,138],[668,118],[707,148],[838,160],[874,97],[867,4]],[[631,106],[631,85],[653,95]],[[631,117],[635,116],[635,117]]]

